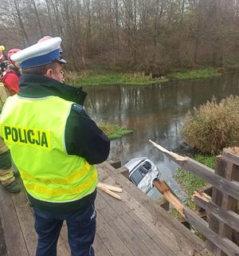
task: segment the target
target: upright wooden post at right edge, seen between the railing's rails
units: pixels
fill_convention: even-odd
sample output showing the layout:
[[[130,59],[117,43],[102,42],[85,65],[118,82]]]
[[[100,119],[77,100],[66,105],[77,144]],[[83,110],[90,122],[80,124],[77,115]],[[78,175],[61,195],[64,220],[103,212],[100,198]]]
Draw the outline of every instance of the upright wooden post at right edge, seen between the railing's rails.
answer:
[[[231,163],[231,161],[229,161],[228,158],[225,158],[224,156],[218,156],[215,174],[220,175],[229,181],[238,181],[239,166],[235,163]],[[225,211],[237,211],[237,199],[222,193],[222,191],[218,190],[216,187],[213,187],[212,202]],[[220,222],[216,217],[214,217],[214,215],[210,215],[209,227],[211,230],[214,230],[214,232],[217,233],[221,238],[229,238],[229,240],[233,241],[233,236],[237,237],[237,234],[234,233],[236,231],[234,231],[233,228],[229,227],[225,223]],[[239,245],[237,242],[235,243]],[[207,246],[216,256],[227,255],[210,241],[208,241]]]

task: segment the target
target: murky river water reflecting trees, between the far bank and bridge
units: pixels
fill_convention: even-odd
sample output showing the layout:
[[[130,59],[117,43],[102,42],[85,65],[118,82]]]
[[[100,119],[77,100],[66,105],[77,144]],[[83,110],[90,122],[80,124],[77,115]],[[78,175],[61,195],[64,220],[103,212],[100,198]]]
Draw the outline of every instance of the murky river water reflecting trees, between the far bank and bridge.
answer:
[[[174,181],[177,165],[163,156],[148,142],[149,139],[163,147],[180,151],[180,129],[186,113],[211,100],[239,94],[239,75],[225,75],[198,81],[173,81],[163,85],[110,86],[86,88],[85,108],[96,121],[118,124],[134,130],[131,135],[112,141],[110,158],[125,163],[135,157],[149,157],[162,172],[174,191],[183,193]],[[157,196],[157,193],[155,193]]]

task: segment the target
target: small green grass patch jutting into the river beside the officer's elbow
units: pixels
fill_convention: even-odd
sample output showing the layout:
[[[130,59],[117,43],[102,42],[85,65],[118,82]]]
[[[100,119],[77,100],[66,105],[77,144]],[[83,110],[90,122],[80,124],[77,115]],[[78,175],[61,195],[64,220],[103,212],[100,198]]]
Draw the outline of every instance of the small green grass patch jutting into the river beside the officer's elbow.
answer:
[[[133,132],[133,130],[119,127],[116,124],[98,124],[98,125],[110,140],[118,139],[122,136],[125,136]]]

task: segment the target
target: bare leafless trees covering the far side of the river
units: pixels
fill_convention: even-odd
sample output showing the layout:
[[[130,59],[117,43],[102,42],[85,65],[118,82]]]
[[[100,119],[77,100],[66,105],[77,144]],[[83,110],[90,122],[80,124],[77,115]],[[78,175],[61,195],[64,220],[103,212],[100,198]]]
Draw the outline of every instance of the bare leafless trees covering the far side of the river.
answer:
[[[239,61],[239,0],[0,2],[1,44],[61,36],[70,69],[96,64],[165,73]]]

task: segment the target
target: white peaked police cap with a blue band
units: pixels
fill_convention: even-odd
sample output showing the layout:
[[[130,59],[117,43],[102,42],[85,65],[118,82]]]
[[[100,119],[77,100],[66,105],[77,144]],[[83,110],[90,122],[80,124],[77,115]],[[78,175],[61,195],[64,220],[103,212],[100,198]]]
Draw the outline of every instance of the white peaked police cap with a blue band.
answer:
[[[11,56],[12,61],[17,61],[22,69],[29,69],[46,65],[54,61],[65,64],[61,57],[61,37],[52,37],[48,40],[31,45]]]

